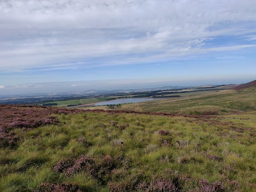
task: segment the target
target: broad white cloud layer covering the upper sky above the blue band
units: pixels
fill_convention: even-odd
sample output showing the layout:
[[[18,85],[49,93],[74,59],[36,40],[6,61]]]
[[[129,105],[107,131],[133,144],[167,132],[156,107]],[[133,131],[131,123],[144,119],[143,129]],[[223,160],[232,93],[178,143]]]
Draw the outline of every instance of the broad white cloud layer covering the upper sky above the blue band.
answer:
[[[0,1],[0,71],[121,65],[248,49],[254,44],[206,45],[229,35],[252,41],[255,8],[250,0]]]

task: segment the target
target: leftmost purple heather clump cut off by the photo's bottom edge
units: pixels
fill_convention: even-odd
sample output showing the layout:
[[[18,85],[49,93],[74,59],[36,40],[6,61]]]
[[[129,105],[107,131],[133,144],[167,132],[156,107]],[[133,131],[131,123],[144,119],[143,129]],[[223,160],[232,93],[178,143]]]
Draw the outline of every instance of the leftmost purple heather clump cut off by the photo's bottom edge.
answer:
[[[41,183],[35,192],[82,192],[75,182],[73,183]]]

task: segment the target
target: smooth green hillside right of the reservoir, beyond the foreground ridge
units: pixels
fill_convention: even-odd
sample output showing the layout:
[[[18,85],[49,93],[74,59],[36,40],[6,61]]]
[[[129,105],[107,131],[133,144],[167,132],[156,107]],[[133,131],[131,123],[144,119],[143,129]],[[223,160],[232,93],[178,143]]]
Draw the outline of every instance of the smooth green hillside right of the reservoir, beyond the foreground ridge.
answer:
[[[132,103],[122,106],[122,109],[181,114],[191,114],[194,111],[202,114],[225,114],[256,110],[255,95],[256,87],[251,87],[240,91],[224,90],[209,95]]]

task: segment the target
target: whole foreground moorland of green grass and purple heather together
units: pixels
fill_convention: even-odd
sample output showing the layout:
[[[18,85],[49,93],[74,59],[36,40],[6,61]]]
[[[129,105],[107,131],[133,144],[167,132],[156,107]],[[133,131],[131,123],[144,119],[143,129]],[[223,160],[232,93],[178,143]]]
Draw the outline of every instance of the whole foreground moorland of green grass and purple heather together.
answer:
[[[256,190],[255,113],[0,113],[0,191]]]

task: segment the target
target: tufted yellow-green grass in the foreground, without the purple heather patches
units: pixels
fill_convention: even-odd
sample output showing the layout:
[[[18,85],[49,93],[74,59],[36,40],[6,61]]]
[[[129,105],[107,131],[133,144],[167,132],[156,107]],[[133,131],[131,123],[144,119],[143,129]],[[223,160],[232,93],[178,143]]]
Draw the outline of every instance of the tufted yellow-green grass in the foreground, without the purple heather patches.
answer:
[[[109,186],[127,189],[154,177],[183,178],[186,182],[180,179],[179,185],[185,191],[199,187],[201,179],[220,181],[227,191],[256,190],[255,113],[223,119],[108,113],[56,116],[59,125],[13,130],[20,138],[18,147],[0,149],[0,191],[33,190],[42,182],[76,182],[84,191],[109,191]],[[161,135],[160,130],[170,134]],[[110,155],[119,165],[105,175],[103,184],[87,171],[71,176],[53,171],[61,159],[81,154],[99,162]]]

